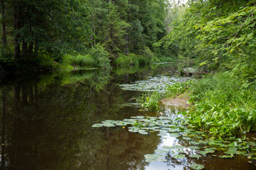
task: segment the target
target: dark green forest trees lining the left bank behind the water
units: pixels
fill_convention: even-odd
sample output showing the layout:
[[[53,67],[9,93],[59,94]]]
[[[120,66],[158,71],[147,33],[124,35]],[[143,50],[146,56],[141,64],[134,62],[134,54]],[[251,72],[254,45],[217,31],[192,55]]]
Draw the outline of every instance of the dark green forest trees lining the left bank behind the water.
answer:
[[[1,69],[60,69],[67,55],[75,67],[87,67],[90,57],[100,64],[91,67],[107,67],[103,62],[130,53],[148,64],[154,52],[161,53],[152,44],[166,35],[168,5],[166,0],[3,0]],[[90,53],[101,46],[108,52],[105,59]]]

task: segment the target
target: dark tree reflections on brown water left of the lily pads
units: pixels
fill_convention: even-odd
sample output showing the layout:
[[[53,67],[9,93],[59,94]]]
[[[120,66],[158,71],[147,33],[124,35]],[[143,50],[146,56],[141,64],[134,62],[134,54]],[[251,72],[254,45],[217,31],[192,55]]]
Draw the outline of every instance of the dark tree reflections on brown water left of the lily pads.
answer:
[[[1,169],[144,169],[158,136],[91,128],[129,116],[121,112],[118,86],[96,90],[89,80],[60,86],[61,79],[1,90]]]

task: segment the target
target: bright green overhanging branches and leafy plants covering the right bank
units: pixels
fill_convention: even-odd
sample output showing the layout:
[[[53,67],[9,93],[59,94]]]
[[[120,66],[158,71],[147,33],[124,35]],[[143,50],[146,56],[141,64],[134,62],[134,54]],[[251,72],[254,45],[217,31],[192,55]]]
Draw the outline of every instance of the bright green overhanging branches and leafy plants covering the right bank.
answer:
[[[186,113],[191,124],[219,137],[256,130],[255,14],[250,0],[174,4],[169,34],[155,44],[205,72],[221,72],[191,85],[193,107]]]

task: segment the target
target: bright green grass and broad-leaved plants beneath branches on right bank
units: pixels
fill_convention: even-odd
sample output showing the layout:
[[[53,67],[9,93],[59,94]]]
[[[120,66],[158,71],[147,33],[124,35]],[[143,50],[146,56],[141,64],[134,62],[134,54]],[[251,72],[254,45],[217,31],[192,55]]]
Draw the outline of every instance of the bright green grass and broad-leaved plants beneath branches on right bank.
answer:
[[[194,82],[190,88],[188,121],[219,137],[256,130],[256,92],[253,84],[230,72]]]

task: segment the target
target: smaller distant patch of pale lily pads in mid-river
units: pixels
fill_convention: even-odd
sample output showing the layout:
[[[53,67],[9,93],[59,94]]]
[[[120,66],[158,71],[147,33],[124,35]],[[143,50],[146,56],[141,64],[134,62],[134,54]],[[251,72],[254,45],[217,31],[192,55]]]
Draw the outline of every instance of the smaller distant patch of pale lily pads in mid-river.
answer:
[[[132,84],[119,84],[121,89],[129,91],[156,91],[158,93],[164,93],[166,86],[175,84],[176,82],[185,82],[190,77],[166,77],[156,76],[149,77],[148,80],[135,81]]]

